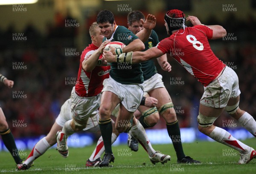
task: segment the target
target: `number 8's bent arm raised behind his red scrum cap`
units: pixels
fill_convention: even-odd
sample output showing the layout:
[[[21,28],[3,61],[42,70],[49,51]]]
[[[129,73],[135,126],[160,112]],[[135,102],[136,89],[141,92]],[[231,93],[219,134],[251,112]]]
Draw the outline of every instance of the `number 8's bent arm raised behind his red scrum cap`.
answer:
[[[186,18],[186,21],[190,21],[193,26],[204,25],[204,24],[201,24],[200,20],[198,20],[198,18],[195,16],[188,16]],[[220,39],[220,38],[226,36],[226,34],[227,34],[227,31],[221,25],[206,25],[206,26],[209,28],[212,28],[213,33],[212,33],[211,39]]]

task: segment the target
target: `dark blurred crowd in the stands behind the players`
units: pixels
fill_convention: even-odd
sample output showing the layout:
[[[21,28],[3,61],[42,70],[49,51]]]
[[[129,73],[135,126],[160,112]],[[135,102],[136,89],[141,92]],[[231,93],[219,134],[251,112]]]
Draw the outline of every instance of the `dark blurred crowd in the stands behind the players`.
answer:
[[[36,25],[40,21],[33,20],[26,20],[26,24],[22,23],[23,28],[17,27],[15,16],[20,18],[20,15],[25,15],[26,12],[15,13],[12,11],[12,6],[9,8],[12,13],[9,19],[11,22],[8,26],[0,23],[0,73],[15,82],[12,89],[0,84],[0,105],[15,138],[45,135],[49,132],[61,105],[70,97],[79,69],[81,51],[90,43],[88,28],[102,9],[113,11],[117,24],[124,26],[127,26],[127,14],[130,10],[141,10],[145,16],[148,13],[155,14],[157,25],[154,30],[159,40],[167,37],[163,16],[171,8],[179,8],[186,16],[195,15],[205,25],[222,25],[230,37],[226,40],[210,40],[210,45],[215,55],[238,74],[241,90],[239,106],[256,118],[256,100],[254,99],[256,96],[254,79],[256,76],[256,16],[249,10],[241,9],[242,7],[236,4],[239,1],[217,0],[216,3],[220,8],[215,9],[215,13],[208,13],[206,17],[203,12],[199,13],[200,9],[195,5],[201,0],[181,0],[181,4],[175,3],[175,6],[172,6],[171,1],[161,0],[159,2],[163,3],[162,9],[157,11],[152,11],[153,7],[134,6],[134,1],[115,1],[108,5],[107,1],[98,0],[95,1],[99,3],[97,8],[87,9],[79,18],[72,8],[68,8],[70,6],[61,5],[74,3],[70,2],[72,1],[39,0],[38,4],[24,5],[23,8],[27,8],[27,13],[30,13],[33,6],[52,8],[51,15],[45,14],[49,15],[51,20],[42,22],[41,28]],[[152,3],[151,0],[148,2]],[[254,0],[245,2],[250,3],[255,10]],[[118,4],[126,4],[128,9],[120,12]],[[223,11],[223,4],[233,4],[236,11]],[[8,6],[0,6],[2,11],[0,15],[8,18],[8,15],[3,14],[3,11],[8,11],[6,8]],[[62,8],[68,10],[63,13],[59,11]],[[208,11],[208,9],[204,8],[201,11]],[[36,11],[33,13],[37,15]],[[218,16],[215,15],[216,13]],[[240,13],[243,14],[242,17]],[[223,16],[221,20],[219,16]],[[67,27],[70,21],[73,21],[75,26]],[[187,23],[187,26],[191,24]],[[17,36],[17,33],[23,34],[26,39],[13,39],[13,34]],[[172,65],[171,73],[164,72],[157,62],[155,63],[175,104],[180,127],[197,127],[196,117],[199,100],[204,91],[203,86],[174,59],[169,57],[169,62]],[[20,65],[20,68],[17,68],[17,65]],[[178,82],[175,84],[172,81]],[[230,119],[232,120],[223,113],[215,125],[223,127],[223,120]],[[15,126],[13,123],[17,121],[26,123],[26,126],[24,128]],[[152,129],[165,127],[165,122],[161,119]]]

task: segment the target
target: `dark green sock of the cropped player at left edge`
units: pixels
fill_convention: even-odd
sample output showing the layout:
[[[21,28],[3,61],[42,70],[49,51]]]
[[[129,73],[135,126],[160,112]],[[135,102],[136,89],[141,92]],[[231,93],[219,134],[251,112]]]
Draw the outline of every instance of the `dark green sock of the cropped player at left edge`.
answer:
[[[21,162],[19,151],[16,147],[15,140],[13,138],[12,132],[10,129],[6,129],[3,132],[0,132],[0,135],[2,135],[2,140],[6,148],[9,150],[9,152],[12,154],[12,157],[15,160],[16,164],[19,164]]]

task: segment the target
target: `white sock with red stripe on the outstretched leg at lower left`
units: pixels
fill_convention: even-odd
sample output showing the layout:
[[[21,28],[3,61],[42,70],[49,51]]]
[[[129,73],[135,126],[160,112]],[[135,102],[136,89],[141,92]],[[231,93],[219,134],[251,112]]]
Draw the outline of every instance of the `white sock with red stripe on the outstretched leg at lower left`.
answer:
[[[40,157],[42,154],[44,154],[44,152],[46,152],[47,149],[49,149],[49,147],[51,147],[51,145],[49,145],[49,143],[47,142],[45,137],[42,138],[41,140],[39,140],[35,144],[34,148],[30,152],[30,154],[27,157],[27,159],[24,162],[24,164],[26,164],[27,166],[30,166],[33,163],[33,161],[35,159],[37,159],[38,157]]]

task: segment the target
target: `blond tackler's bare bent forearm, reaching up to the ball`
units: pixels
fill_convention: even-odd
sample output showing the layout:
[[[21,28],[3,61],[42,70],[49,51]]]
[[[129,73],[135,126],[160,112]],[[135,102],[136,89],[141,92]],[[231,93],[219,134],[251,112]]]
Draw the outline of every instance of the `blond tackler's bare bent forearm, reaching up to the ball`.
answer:
[[[102,61],[99,60],[99,56],[103,53],[103,50],[105,46],[109,43],[110,41],[105,41],[103,42],[100,47],[94,51],[91,55],[86,55],[83,62],[82,62],[82,67],[85,71],[91,72],[96,65],[102,65]]]

